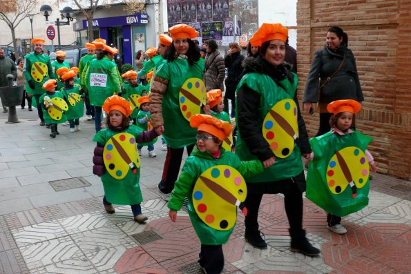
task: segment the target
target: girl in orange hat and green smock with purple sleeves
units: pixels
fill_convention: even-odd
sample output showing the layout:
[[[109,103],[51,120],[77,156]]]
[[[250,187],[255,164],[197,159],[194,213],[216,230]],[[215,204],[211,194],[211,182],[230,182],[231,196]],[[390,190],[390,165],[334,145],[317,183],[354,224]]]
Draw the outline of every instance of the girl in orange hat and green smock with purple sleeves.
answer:
[[[93,157],[93,173],[101,177],[104,186],[103,204],[107,213],[115,213],[113,204],[131,205],[135,222],[144,223],[143,201],[140,188],[140,157],[136,144],[155,139],[155,130],[142,130],[129,124],[133,111],[126,99],[113,95],[102,106],[108,113],[107,127],[100,130],[93,141],[97,142]]]

